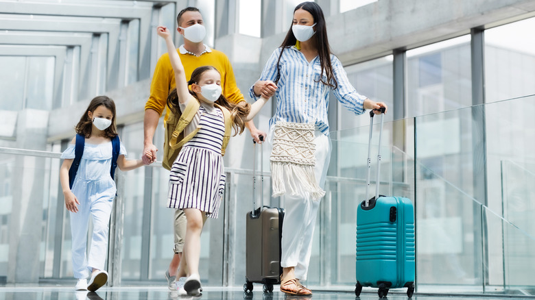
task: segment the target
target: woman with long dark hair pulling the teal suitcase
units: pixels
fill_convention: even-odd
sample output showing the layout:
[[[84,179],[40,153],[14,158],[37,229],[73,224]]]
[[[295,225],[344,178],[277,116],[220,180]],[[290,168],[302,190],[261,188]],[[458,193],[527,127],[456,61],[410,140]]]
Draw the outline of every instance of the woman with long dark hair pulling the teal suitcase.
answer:
[[[355,114],[385,103],[359,95],[331,54],[322,9],[314,2],[296,6],[292,27],[272,53],[251,88],[257,99],[276,92],[276,112],[270,119],[268,141],[274,196],[285,203],[281,242],[281,291],[311,295],[300,280],[307,279],[312,236],[331,157],[329,92]]]

